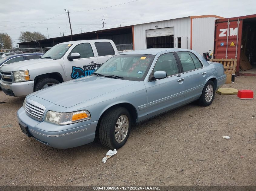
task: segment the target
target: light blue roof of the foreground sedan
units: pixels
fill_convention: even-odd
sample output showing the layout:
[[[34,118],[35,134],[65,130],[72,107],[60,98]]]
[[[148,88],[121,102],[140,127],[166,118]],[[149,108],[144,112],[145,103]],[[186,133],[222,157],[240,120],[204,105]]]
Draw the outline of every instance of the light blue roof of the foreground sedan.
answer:
[[[175,51],[190,51],[188,49],[180,49],[180,48],[149,48],[149,49],[143,49],[143,50],[134,50],[134,51],[128,51],[128,52],[123,52],[120,54],[152,54],[152,55],[157,55],[158,53],[164,52],[164,51],[170,51],[170,52],[175,52]]]

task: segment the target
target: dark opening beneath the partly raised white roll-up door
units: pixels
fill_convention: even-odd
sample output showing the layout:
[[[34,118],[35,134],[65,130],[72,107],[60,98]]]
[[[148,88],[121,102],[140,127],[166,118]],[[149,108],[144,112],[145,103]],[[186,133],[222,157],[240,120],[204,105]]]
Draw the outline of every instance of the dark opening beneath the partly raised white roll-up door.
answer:
[[[147,37],[147,48],[173,48],[173,36]]]

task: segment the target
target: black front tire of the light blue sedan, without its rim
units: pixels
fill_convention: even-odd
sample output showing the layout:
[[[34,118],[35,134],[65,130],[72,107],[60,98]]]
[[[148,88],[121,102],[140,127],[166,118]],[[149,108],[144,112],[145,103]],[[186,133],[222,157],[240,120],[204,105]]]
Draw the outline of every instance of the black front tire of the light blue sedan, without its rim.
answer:
[[[115,126],[120,116],[126,115],[128,117],[128,132],[122,142],[117,142],[115,139]],[[112,107],[108,109],[102,116],[99,127],[99,138],[101,145],[110,148],[122,147],[127,141],[131,131],[131,116],[127,109],[124,107]]]

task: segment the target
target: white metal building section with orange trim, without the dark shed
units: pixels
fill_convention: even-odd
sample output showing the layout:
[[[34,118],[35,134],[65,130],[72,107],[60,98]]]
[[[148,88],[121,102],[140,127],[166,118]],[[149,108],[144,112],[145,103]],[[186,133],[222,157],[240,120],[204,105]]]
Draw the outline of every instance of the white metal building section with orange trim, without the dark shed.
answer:
[[[201,55],[214,47],[216,15],[190,16],[133,25],[134,49],[184,48]]]

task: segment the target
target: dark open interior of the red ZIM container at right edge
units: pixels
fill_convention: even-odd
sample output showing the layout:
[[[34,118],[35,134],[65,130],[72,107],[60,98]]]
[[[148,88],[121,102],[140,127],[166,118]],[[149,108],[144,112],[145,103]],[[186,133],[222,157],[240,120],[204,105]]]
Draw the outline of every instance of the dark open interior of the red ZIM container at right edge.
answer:
[[[241,73],[256,73],[256,18],[243,20],[240,68]]]

